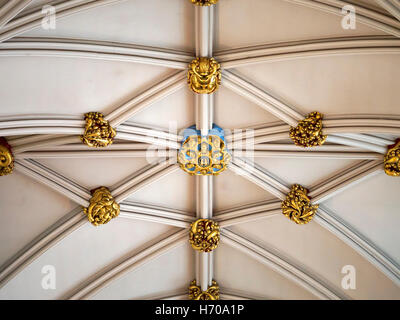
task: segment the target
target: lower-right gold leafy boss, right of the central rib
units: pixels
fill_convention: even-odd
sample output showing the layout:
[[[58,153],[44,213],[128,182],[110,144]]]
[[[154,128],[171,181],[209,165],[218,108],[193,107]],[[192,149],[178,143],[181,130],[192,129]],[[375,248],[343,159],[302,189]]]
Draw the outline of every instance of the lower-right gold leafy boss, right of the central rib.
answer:
[[[282,201],[283,214],[297,224],[309,223],[319,207],[311,204],[307,193],[306,188],[295,184],[286,196],[286,200]]]

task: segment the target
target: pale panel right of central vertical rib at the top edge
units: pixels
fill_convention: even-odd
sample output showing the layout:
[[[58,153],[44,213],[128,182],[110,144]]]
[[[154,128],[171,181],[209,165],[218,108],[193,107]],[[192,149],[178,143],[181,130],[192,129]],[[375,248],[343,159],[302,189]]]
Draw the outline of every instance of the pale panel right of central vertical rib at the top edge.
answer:
[[[303,39],[383,34],[360,23],[355,30],[344,30],[341,19],[340,16],[290,1],[227,0],[218,7],[216,49]]]

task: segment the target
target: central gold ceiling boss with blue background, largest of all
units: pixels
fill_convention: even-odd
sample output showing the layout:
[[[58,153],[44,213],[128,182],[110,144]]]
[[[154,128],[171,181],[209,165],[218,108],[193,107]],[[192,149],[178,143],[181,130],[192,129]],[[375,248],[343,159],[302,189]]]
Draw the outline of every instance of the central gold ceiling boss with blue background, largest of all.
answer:
[[[226,170],[231,156],[218,136],[192,135],[178,152],[178,163],[190,175],[218,175]]]

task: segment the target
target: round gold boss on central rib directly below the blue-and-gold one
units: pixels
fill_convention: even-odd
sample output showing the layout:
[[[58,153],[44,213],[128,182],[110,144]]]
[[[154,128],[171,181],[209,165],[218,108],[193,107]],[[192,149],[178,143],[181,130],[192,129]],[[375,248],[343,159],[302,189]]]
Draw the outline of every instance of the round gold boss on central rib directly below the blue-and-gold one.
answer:
[[[219,244],[219,225],[210,219],[199,219],[190,225],[189,242],[192,248],[210,252]]]

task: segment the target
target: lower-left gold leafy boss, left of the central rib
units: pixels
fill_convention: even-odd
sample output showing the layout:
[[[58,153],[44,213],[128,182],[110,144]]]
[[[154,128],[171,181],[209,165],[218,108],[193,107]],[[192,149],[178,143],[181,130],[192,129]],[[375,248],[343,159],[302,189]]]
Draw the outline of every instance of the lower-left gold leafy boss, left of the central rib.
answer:
[[[83,211],[89,221],[95,225],[106,224],[119,215],[119,204],[115,202],[110,191],[106,187],[100,187],[92,191],[92,198],[88,208]]]

